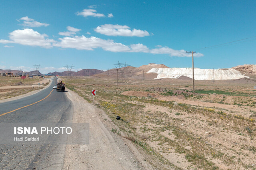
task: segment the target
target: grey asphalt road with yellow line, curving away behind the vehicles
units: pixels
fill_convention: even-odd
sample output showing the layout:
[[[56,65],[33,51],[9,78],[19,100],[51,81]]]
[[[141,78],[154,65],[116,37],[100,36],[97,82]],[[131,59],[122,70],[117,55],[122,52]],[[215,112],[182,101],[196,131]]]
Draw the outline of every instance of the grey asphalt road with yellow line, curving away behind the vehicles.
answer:
[[[0,116],[0,123],[58,123],[72,120],[73,104],[67,98],[67,92],[53,90],[52,87],[56,83],[57,79],[53,78],[48,88],[36,94],[1,103],[0,115],[45,98],[36,104]],[[0,169],[62,169],[65,147],[65,145],[0,145]]]

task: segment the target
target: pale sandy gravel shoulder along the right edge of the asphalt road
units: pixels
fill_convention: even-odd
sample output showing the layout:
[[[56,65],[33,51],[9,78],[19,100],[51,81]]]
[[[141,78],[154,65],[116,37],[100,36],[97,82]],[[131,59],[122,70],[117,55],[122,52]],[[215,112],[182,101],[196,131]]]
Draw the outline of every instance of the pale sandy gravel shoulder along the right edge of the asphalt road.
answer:
[[[118,128],[106,113],[68,90],[73,122],[90,123],[90,145],[67,145],[63,169],[153,169],[131,141],[111,132]]]

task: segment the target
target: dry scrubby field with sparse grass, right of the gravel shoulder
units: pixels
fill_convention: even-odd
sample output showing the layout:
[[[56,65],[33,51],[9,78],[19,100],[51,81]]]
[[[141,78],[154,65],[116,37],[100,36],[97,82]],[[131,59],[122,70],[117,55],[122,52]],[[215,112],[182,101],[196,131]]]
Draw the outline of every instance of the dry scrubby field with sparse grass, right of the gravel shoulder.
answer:
[[[62,80],[89,103],[96,90],[96,106],[118,127],[111,132],[130,140],[153,168],[255,169],[253,79],[195,81],[195,92],[186,79],[126,79],[117,88],[114,79]]]

